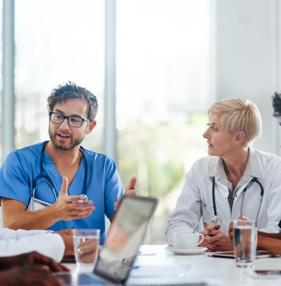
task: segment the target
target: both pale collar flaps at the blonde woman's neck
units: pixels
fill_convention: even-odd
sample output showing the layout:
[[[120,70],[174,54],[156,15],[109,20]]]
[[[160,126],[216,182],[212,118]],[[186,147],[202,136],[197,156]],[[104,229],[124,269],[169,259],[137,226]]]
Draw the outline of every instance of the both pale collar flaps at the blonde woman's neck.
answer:
[[[249,157],[243,179],[247,181],[251,176],[262,179],[262,171],[263,169],[258,154],[253,147],[249,147]],[[211,167],[206,175],[206,178],[214,177],[215,180],[218,180],[223,173],[224,167],[222,158],[216,157],[211,163]]]

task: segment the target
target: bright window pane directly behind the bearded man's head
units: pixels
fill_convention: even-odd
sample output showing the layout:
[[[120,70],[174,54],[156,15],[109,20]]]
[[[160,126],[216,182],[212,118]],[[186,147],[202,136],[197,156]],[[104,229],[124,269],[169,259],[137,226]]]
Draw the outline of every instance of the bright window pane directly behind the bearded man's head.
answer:
[[[47,97],[71,80],[98,97],[98,124],[83,145],[103,150],[104,5],[101,0],[15,1],[16,148],[49,138]]]

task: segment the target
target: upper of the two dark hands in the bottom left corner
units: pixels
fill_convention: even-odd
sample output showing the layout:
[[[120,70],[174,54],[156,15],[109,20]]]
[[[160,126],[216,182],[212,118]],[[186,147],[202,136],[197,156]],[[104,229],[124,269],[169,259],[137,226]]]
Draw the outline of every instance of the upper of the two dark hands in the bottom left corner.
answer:
[[[21,267],[28,264],[40,264],[47,266],[48,269],[54,272],[69,271],[68,268],[36,251],[16,256],[0,257],[1,270],[10,269],[13,267]]]

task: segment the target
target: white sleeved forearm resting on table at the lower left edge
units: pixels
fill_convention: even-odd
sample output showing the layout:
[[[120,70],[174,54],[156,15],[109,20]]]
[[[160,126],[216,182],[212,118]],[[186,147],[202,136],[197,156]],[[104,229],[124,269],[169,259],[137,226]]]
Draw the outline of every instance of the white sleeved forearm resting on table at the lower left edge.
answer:
[[[59,234],[38,234],[20,239],[0,239],[0,256],[13,256],[37,251],[60,262],[64,256],[65,243]]]

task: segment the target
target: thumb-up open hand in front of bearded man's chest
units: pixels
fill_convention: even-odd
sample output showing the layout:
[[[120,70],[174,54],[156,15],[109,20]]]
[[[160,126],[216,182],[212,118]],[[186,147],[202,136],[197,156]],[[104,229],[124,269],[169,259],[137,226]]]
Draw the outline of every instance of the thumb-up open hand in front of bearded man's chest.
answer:
[[[63,184],[57,201],[48,208],[59,220],[71,220],[88,217],[95,210],[93,201],[83,201],[83,196],[68,195],[68,179],[63,177]]]

